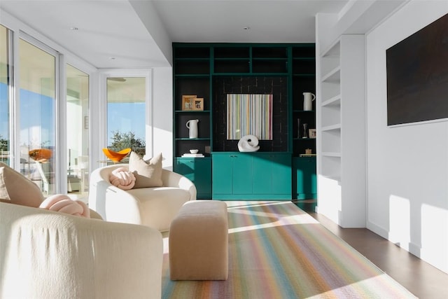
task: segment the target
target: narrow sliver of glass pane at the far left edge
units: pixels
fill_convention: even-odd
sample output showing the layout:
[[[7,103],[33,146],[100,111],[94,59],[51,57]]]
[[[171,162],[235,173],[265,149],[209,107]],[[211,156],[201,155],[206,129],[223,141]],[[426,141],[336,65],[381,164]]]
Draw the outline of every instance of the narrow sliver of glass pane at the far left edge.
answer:
[[[8,29],[0,25],[0,162],[10,165],[8,46]]]

